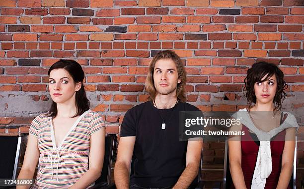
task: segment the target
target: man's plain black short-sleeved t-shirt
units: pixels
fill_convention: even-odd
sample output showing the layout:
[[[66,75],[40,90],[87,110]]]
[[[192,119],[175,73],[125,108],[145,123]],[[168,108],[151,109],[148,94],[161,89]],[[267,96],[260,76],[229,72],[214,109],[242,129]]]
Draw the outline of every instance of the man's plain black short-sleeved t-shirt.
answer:
[[[179,112],[200,111],[178,102],[170,109],[156,109],[151,101],[128,110],[120,136],[136,136],[134,174],[130,185],[162,188],[173,186],[186,165],[187,141],[179,141]],[[165,129],[161,128],[165,120]]]

